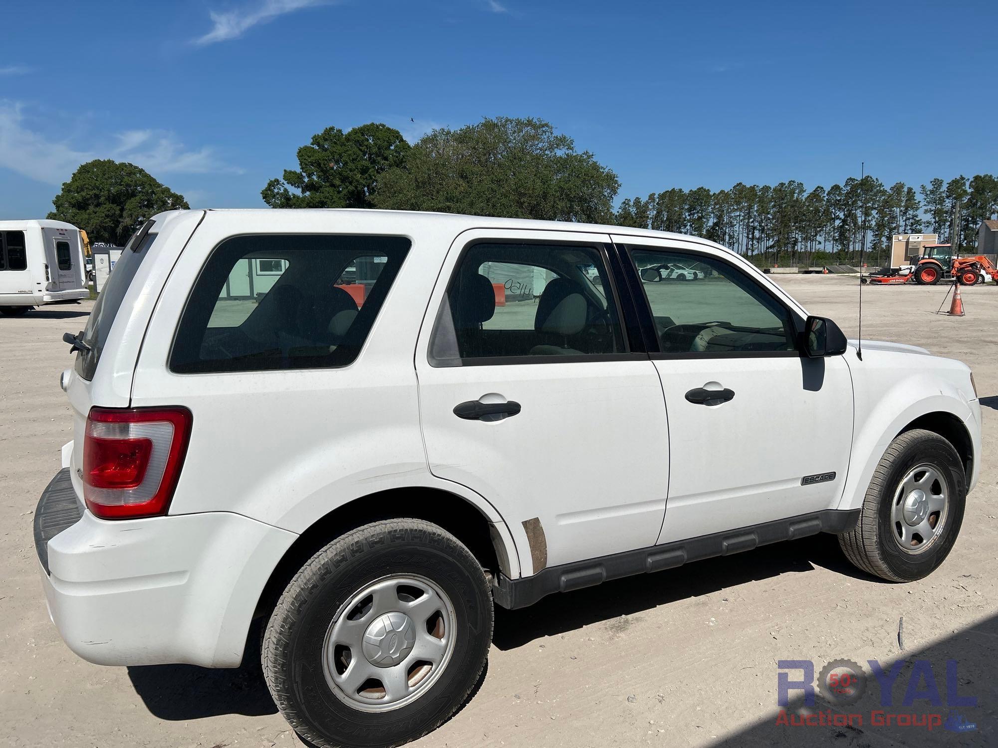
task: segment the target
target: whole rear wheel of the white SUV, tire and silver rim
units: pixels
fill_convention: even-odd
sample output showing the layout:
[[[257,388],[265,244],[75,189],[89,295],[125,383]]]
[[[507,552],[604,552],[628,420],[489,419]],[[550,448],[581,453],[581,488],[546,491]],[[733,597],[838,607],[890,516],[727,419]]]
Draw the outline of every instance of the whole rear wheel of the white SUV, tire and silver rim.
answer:
[[[389,746],[447,720],[492,638],[481,566],[421,520],[366,525],[298,571],[263,636],[267,686],[317,746]]]

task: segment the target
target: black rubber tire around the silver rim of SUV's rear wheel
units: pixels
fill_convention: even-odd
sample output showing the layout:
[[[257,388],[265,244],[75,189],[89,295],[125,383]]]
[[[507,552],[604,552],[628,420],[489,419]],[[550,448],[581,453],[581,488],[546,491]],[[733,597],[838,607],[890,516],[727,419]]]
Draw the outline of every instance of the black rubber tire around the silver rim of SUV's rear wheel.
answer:
[[[395,573],[422,576],[446,593],[456,618],[453,650],[414,701],[361,711],[327,683],[323,642],[341,606],[367,584]],[[277,708],[306,740],[323,747],[395,746],[425,735],[457,711],[481,675],[491,639],[491,590],[471,552],[436,525],[390,520],[337,538],[301,567],[270,615],[261,660]]]

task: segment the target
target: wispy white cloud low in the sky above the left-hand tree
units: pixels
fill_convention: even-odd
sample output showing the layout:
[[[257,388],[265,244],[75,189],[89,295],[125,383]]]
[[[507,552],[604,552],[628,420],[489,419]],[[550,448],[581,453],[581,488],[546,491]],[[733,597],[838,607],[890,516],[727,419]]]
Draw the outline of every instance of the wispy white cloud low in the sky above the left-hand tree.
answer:
[[[242,174],[227,166],[213,149],[186,150],[165,130],[131,130],[96,143],[74,147],[68,140],[46,136],[25,121],[24,105],[0,100],[0,167],[49,185],[61,185],[84,162],[114,159],[142,167],[154,177],[161,174]]]

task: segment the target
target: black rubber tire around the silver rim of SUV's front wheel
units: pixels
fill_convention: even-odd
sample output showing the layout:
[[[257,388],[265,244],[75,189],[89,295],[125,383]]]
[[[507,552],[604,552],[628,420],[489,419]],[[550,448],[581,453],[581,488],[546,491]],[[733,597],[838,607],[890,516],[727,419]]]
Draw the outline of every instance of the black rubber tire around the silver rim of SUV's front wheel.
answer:
[[[912,469],[927,464],[943,474],[950,496],[944,527],[924,551],[906,553],[895,541],[891,508],[901,481]],[[884,453],[870,479],[856,526],[838,537],[845,558],[858,568],[889,581],[914,581],[945,561],[960,533],[966,506],[966,476],[953,445],[938,434],[912,429],[899,435]]]

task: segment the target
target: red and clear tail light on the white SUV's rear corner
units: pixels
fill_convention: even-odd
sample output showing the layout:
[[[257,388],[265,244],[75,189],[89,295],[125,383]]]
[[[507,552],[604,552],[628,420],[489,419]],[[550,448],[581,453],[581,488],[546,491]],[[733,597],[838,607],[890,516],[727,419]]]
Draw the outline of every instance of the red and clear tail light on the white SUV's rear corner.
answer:
[[[105,520],[167,514],[191,437],[187,408],[91,408],[83,498]]]

